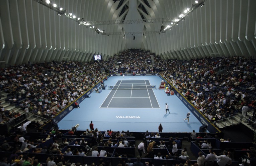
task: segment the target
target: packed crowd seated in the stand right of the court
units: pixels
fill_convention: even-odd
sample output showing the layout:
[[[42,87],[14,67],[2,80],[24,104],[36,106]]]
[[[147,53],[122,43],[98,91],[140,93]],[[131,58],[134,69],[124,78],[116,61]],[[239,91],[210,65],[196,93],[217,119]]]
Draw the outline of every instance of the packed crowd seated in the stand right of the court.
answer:
[[[161,74],[172,86],[211,121],[232,117],[244,106],[256,118],[255,60],[224,57],[158,64],[166,66]]]

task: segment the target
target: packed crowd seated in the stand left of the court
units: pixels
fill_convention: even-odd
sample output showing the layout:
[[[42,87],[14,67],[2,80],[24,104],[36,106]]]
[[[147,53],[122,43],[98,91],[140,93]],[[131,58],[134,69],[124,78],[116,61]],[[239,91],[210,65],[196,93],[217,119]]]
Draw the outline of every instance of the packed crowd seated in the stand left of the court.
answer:
[[[7,101],[45,118],[56,115],[106,76],[99,63],[50,62],[1,68],[0,89]],[[0,122],[18,115],[1,107]]]

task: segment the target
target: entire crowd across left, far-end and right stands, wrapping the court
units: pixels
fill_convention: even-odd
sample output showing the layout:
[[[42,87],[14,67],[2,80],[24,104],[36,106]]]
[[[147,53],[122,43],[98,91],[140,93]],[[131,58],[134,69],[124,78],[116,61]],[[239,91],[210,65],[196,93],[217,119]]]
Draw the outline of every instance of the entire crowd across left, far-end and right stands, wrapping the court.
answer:
[[[111,73],[160,71],[210,120],[234,116],[245,105],[254,109],[255,120],[255,60],[224,57],[179,61],[154,56],[154,63],[148,65],[149,59],[149,52],[129,49],[109,58],[107,63],[53,61],[16,65],[1,69],[0,89],[9,93],[10,103],[25,112],[50,118],[104,78],[102,67]],[[20,115],[5,110],[1,103],[0,107],[2,123]]]

